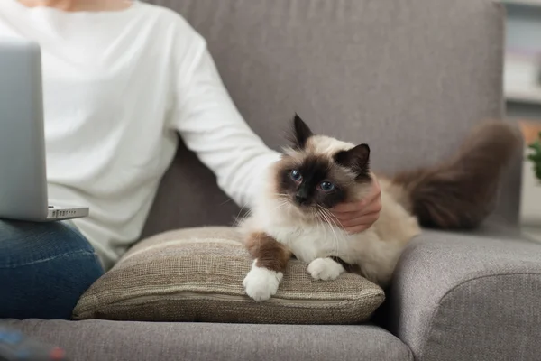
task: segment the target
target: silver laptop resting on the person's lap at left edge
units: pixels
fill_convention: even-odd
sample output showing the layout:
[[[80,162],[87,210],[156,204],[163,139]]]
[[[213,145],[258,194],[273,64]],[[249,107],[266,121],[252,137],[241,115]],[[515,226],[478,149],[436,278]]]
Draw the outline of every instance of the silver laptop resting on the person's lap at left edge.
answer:
[[[0,218],[81,218],[87,207],[49,204],[41,51],[36,42],[0,38]]]

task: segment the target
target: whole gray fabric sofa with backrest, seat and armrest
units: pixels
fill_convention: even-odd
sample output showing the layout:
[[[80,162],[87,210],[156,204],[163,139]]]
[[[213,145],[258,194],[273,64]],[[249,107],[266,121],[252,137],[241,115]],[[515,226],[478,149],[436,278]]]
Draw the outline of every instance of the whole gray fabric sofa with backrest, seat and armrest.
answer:
[[[297,111],[368,142],[398,171],[454,152],[500,118],[504,12],[486,0],[162,0],[207,39],[252,128],[283,143]],[[473,233],[426,230],[371,324],[280,326],[13,321],[75,360],[539,360],[541,246],[518,232],[521,159]],[[182,145],[144,236],[231,224],[238,209]]]

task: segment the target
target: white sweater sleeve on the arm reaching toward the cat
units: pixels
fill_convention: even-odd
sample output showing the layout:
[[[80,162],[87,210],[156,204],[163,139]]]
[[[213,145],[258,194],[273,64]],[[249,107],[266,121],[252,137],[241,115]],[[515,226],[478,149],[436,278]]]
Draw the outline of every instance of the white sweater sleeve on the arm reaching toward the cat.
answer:
[[[241,207],[252,207],[261,180],[280,153],[244,122],[197,34],[184,50],[173,123],[189,150],[215,173],[218,186]]]

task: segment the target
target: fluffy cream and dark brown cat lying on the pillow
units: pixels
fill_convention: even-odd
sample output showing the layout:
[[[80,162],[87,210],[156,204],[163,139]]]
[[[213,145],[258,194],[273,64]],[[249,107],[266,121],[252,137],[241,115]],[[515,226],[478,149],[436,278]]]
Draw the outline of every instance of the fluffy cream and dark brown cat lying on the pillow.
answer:
[[[298,115],[293,134],[238,225],[253,257],[243,286],[255,301],[276,294],[292,255],[315,280],[335,280],[347,271],[385,288],[422,226],[472,228],[491,213],[500,173],[521,143],[512,126],[487,123],[448,161],[385,177],[371,171],[368,144],[314,134]],[[374,179],[381,187],[380,218],[349,234],[330,209],[363,199]]]

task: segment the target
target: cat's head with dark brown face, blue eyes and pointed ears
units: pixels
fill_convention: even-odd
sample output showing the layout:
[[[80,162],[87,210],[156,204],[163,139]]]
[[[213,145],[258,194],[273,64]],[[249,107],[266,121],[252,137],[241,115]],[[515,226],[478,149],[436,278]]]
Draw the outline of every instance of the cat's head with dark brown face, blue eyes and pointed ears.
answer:
[[[293,130],[293,145],[275,168],[276,197],[290,207],[313,214],[355,199],[359,188],[370,183],[367,144],[314,134],[297,115]]]

